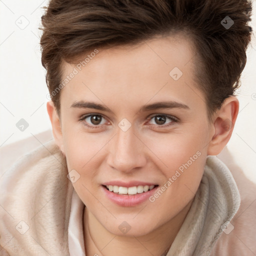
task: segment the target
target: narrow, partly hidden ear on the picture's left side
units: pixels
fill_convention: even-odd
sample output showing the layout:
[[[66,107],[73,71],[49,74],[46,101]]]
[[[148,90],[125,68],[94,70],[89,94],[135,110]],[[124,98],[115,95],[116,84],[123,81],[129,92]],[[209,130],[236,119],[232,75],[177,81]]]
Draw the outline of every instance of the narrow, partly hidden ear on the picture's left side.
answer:
[[[56,108],[53,105],[52,101],[47,102],[47,112],[48,112],[48,115],[50,118],[52,134],[55,139],[55,142],[58,145],[59,149],[62,151],[62,153],[65,155],[64,147],[63,147],[63,136],[62,136],[62,130],[61,130],[61,122],[60,122]]]

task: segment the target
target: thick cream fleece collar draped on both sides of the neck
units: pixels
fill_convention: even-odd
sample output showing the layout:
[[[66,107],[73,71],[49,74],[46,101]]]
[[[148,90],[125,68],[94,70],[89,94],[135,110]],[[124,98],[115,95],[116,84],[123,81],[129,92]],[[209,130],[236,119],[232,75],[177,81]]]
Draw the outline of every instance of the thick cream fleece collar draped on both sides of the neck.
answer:
[[[26,154],[4,173],[0,181],[1,256],[67,256],[69,251],[71,256],[82,255],[72,255],[72,248],[84,250],[84,205],[73,197],[67,173],[65,158],[54,141]],[[72,207],[70,215],[74,200],[76,208]],[[201,183],[167,256],[227,255],[215,248],[218,254],[211,252],[239,203],[228,168],[217,157],[207,156]]]

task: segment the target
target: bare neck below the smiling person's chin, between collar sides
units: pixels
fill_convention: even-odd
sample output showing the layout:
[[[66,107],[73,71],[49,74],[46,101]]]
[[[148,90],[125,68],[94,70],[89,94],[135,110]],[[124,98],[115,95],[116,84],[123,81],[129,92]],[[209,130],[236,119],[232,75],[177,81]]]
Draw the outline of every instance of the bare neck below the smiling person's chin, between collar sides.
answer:
[[[86,256],[164,256],[168,252],[185,216],[190,208],[190,201],[175,217],[142,236],[119,236],[109,232],[84,208],[83,232]]]

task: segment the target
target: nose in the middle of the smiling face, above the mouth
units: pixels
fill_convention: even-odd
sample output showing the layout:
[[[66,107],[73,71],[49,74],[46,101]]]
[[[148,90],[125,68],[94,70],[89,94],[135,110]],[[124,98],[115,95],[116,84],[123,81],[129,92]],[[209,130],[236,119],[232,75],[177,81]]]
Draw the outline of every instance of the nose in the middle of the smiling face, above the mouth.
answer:
[[[143,148],[144,144],[134,133],[132,126],[126,131],[117,127],[116,135],[110,143],[107,163],[116,170],[132,172],[146,163]]]

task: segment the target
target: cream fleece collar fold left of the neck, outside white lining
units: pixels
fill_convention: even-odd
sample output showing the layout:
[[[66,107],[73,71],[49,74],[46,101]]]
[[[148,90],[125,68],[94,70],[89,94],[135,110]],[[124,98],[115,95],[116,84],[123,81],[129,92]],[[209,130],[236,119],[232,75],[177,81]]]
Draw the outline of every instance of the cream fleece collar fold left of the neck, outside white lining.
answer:
[[[73,190],[67,173],[63,155],[49,141],[2,174],[0,255],[27,255],[28,251],[44,255],[40,244],[51,255],[65,255]]]

